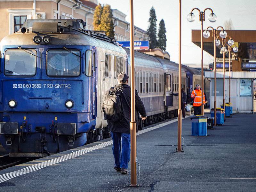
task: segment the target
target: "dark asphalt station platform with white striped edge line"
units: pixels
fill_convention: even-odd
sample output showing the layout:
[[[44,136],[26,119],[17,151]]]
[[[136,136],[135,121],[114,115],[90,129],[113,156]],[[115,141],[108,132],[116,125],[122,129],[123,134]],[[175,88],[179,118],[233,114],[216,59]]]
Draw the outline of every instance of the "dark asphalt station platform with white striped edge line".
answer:
[[[210,116],[210,114],[206,114]],[[234,114],[208,136],[191,136],[182,120],[183,153],[176,153],[177,119],[137,135],[137,178],[113,169],[111,138],[0,171],[0,190],[13,191],[246,191],[256,189],[256,115]],[[130,166],[130,163],[129,163]],[[128,171],[130,167],[128,168]]]

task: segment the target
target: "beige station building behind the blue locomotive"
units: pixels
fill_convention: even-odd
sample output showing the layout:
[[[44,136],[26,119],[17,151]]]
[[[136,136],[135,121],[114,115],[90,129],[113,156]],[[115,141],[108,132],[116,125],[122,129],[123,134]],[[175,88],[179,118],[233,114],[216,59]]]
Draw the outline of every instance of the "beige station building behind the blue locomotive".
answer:
[[[0,0],[2,20],[0,40],[18,31],[27,19],[83,19],[86,29],[93,30],[93,14],[97,0]],[[115,38],[129,41],[130,24],[126,15],[112,10]],[[147,32],[134,26],[134,40],[148,40]]]

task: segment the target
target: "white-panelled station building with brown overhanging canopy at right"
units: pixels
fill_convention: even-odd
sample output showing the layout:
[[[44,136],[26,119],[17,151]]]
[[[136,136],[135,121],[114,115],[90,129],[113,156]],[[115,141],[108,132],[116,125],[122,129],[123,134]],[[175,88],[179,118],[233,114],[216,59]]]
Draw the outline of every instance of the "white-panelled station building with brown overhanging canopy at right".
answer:
[[[226,30],[239,48],[231,54],[230,99],[234,112],[256,112],[256,31]],[[212,32],[211,32],[212,34]],[[229,39],[229,38],[227,38]],[[192,42],[201,47],[201,30],[192,30]],[[214,56],[213,37],[204,38],[204,51]],[[214,70],[216,70],[216,105],[223,103],[223,54],[222,45],[216,47],[216,69],[205,71],[206,81],[210,82],[210,108],[214,107]],[[214,65],[213,65],[214,66]],[[229,62],[225,55],[225,100],[229,102]]]

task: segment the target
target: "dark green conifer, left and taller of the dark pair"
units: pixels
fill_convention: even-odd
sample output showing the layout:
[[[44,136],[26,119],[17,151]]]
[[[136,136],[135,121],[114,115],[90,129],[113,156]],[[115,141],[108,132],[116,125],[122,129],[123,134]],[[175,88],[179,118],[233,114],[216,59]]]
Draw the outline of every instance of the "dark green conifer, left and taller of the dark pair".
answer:
[[[154,49],[157,47],[157,40],[156,40],[156,11],[154,7],[152,6],[149,12],[149,27],[148,27],[148,36],[150,38],[149,40],[149,48]]]

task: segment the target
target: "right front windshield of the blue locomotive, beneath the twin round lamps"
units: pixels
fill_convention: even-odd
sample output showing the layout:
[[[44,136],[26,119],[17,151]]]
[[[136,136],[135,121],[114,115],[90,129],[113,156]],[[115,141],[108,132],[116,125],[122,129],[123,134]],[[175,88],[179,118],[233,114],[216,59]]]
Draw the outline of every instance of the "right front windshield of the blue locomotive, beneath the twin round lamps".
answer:
[[[80,75],[80,51],[66,50],[47,51],[48,76],[79,76]]]

